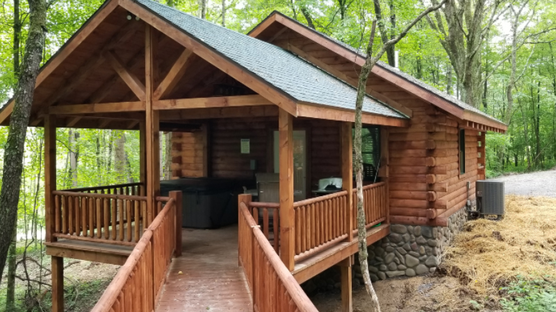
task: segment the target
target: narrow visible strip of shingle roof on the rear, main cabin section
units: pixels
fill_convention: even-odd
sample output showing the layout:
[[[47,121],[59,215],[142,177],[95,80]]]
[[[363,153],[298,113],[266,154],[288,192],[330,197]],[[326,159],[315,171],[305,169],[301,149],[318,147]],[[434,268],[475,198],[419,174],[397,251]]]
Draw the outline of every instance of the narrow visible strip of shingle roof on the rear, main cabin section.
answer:
[[[327,38],[328,40],[338,44],[339,46],[343,46],[345,49],[348,49],[348,50],[352,51],[353,53],[358,54],[363,59],[367,57],[366,53],[363,53],[359,49],[355,49],[353,46],[350,46],[349,44],[345,44],[344,42],[341,42],[340,40],[336,40],[335,38],[330,37],[329,35],[326,35],[325,33],[321,33],[320,31],[316,31],[313,28],[309,28],[309,27],[305,26],[304,24],[300,23],[299,21],[296,21],[295,19],[291,19],[291,17],[288,17],[287,15],[282,14],[281,12],[274,11],[274,12],[272,12],[272,14],[279,14],[283,17],[286,17],[287,19],[295,22],[296,24],[304,26],[309,31],[317,33],[318,35]],[[270,14],[269,17],[272,16],[272,14]],[[255,26],[255,28],[256,28],[256,26]],[[253,30],[255,28],[253,28]],[[475,113],[480,114],[482,116],[485,116],[486,118],[489,118],[493,121],[497,121],[499,123],[502,123],[502,121],[494,118],[493,116],[490,116],[489,114],[486,114],[485,112],[482,112],[481,110],[478,110],[477,108],[475,108],[471,105],[468,105],[464,101],[459,100],[459,98],[456,98],[455,96],[451,96],[450,94],[442,92],[439,89],[436,89],[435,87],[433,87],[432,85],[429,85],[429,84],[425,83],[424,81],[421,81],[421,80],[415,78],[414,76],[409,75],[409,73],[404,73],[403,71],[400,71],[398,69],[395,69],[394,67],[391,67],[389,64],[386,64],[385,62],[379,61],[379,62],[377,62],[377,64],[375,66],[382,67],[382,69],[390,71],[391,73],[394,73],[395,75],[400,76],[401,78],[404,78],[405,80],[413,83],[414,85],[417,85],[418,87],[420,87],[422,89],[425,89],[428,92],[430,92],[430,93],[432,93],[436,96],[439,96],[440,98],[443,98],[445,101],[448,101],[449,103],[452,103],[453,105],[456,105],[456,106],[458,106],[458,107],[460,107],[464,110],[469,110],[471,112],[475,112]]]

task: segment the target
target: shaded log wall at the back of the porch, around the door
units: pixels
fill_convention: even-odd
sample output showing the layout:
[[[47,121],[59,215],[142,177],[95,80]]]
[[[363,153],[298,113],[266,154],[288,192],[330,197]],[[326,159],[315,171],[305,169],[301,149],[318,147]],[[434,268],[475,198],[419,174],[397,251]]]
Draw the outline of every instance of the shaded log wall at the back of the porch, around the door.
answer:
[[[173,132],[173,178],[252,179],[256,172],[274,170],[272,131],[278,129],[277,117],[213,119],[208,124],[206,132]],[[308,196],[319,179],[341,177],[340,125],[336,121],[294,119],[294,130],[306,131]],[[241,153],[241,139],[250,139],[249,154]],[[255,171],[251,170],[252,159],[256,160]]]

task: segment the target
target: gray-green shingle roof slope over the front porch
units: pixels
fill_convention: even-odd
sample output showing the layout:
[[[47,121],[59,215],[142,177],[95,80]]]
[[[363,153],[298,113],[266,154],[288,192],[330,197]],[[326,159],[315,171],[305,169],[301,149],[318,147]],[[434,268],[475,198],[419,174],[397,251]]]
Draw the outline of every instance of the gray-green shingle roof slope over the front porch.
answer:
[[[355,107],[357,89],[289,51],[152,0],[135,1],[297,101]],[[370,96],[363,102],[363,112],[407,118]]]

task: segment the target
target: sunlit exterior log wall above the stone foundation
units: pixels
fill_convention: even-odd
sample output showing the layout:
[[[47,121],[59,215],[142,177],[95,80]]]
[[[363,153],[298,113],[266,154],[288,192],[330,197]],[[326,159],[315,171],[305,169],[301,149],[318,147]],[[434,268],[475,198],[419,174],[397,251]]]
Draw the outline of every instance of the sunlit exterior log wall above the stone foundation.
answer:
[[[414,116],[389,134],[391,222],[434,225],[475,200],[479,132],[466,129],[466,172],[459,171],[459,124],[417,98],[398,100]],[[471,183],[469,192],[467,182]]]

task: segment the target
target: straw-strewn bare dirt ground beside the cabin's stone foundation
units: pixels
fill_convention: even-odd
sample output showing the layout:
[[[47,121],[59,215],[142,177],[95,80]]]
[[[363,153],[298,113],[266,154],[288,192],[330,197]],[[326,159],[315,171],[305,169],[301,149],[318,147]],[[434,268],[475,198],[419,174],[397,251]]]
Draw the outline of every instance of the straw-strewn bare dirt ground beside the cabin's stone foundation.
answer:
[[[509,183],[508,183],[509,184]],[[505,198],[501,221],[471,220],[444,254],[435,275],[373,283],[384,312],[501,311],[500,291],[516,281],[556,277],[556,198]],[[318,311],[341,311],[339,291],[311,297]],[[475,303],[474,303],[475,302]],[[370,311],[362,286],[353,293],[354,311]]]

